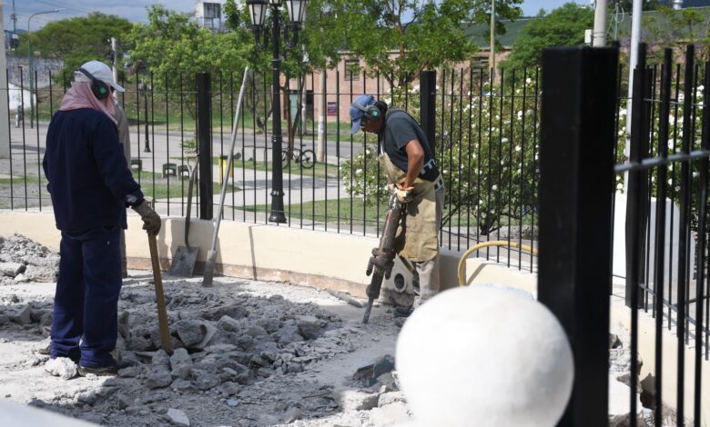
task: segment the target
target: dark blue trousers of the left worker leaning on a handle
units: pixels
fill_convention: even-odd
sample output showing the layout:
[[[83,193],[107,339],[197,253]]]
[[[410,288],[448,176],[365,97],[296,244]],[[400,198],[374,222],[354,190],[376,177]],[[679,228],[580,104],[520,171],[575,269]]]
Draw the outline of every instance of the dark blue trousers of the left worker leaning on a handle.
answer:
[[[120,229],[62,232],[59,255],[51,355],[80,358],[86,367],[110,365],[121,292]]]

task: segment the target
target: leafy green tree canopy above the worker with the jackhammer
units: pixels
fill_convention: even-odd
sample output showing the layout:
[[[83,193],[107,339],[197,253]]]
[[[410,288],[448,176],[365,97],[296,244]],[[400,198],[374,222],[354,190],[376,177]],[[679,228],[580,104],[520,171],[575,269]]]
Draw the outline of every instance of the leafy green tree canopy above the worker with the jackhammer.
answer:
[[[409,84],[421,70],[461,63],[477,47],[466,34],[472,25],[490,23],[487,0],[312,0],[324,38],[362,58],[394,86]],[[496,1],[496,16],[516,19],[522,0]],[[504,34],[500,21],[496,33]]]

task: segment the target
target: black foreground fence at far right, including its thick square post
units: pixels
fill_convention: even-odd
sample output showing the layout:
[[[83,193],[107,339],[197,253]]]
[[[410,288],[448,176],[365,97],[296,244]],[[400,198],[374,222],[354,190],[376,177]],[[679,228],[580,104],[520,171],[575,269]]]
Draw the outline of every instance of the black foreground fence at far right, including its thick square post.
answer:
[[[697,64],[690,45],[677,63],[665,50],[652,52],[663,54],[662,64],[648,65],[641,45],[631,83],[630,141],[624,147],[618,112],[625,112],[626,100],[619,96],[621,74],[609,64],[614,52],[555,51],[546,54],[543,65],[539,292],[570,337],[577,376],[561,425],[608,422],[611,289],[630,309],[628,425],[641,422],[636,402],[644,334],[652,337],[654,349],[644,361],[653,366],[644,406],[653,410],[654,425],[701,426],[707,416],[702,379],[709,350],[710,64]],[[555,71],[560,69],[567,75]],[[610,106],[614,91],[620,104]],[[617,185],[625,191],[616,195],[614,206]],[[622,208],[625,221],[615,225],[624,231],[614,230],[614,209]],[[614,246],[614,233],[624,233],[625,244]],[[612,280],[613,260],[619,257],[623,284]],[[644,329],[642,314],[654,320],[653,328]],[[664,353],[667,340],[675,352]],[[672,385],[664,384],[668,379]]]

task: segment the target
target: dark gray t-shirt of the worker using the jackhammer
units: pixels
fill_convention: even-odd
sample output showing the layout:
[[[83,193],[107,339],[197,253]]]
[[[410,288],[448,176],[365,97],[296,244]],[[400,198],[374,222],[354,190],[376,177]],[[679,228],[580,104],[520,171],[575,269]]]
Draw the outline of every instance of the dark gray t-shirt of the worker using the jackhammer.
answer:
[[[410,114],[391,108],[385,114],[384,130],[378,135],[380,152],[387,153],[391,162],[402,171],[407,172],[407,151],[404,148],[411,140],[416,139],[424,150],[424,165],[419,177],[425,181],[433,182],[439,177],[439,168],[431,155],[431,147],[421,126]]]

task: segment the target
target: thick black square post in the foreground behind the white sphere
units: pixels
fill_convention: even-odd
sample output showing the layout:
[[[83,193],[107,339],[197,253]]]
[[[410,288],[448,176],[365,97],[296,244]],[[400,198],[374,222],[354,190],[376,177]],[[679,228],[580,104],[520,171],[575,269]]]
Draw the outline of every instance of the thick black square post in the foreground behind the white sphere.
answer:
[[[616,48],[543,53],[539,300],[574,354],[562,427],[608,424]]]

